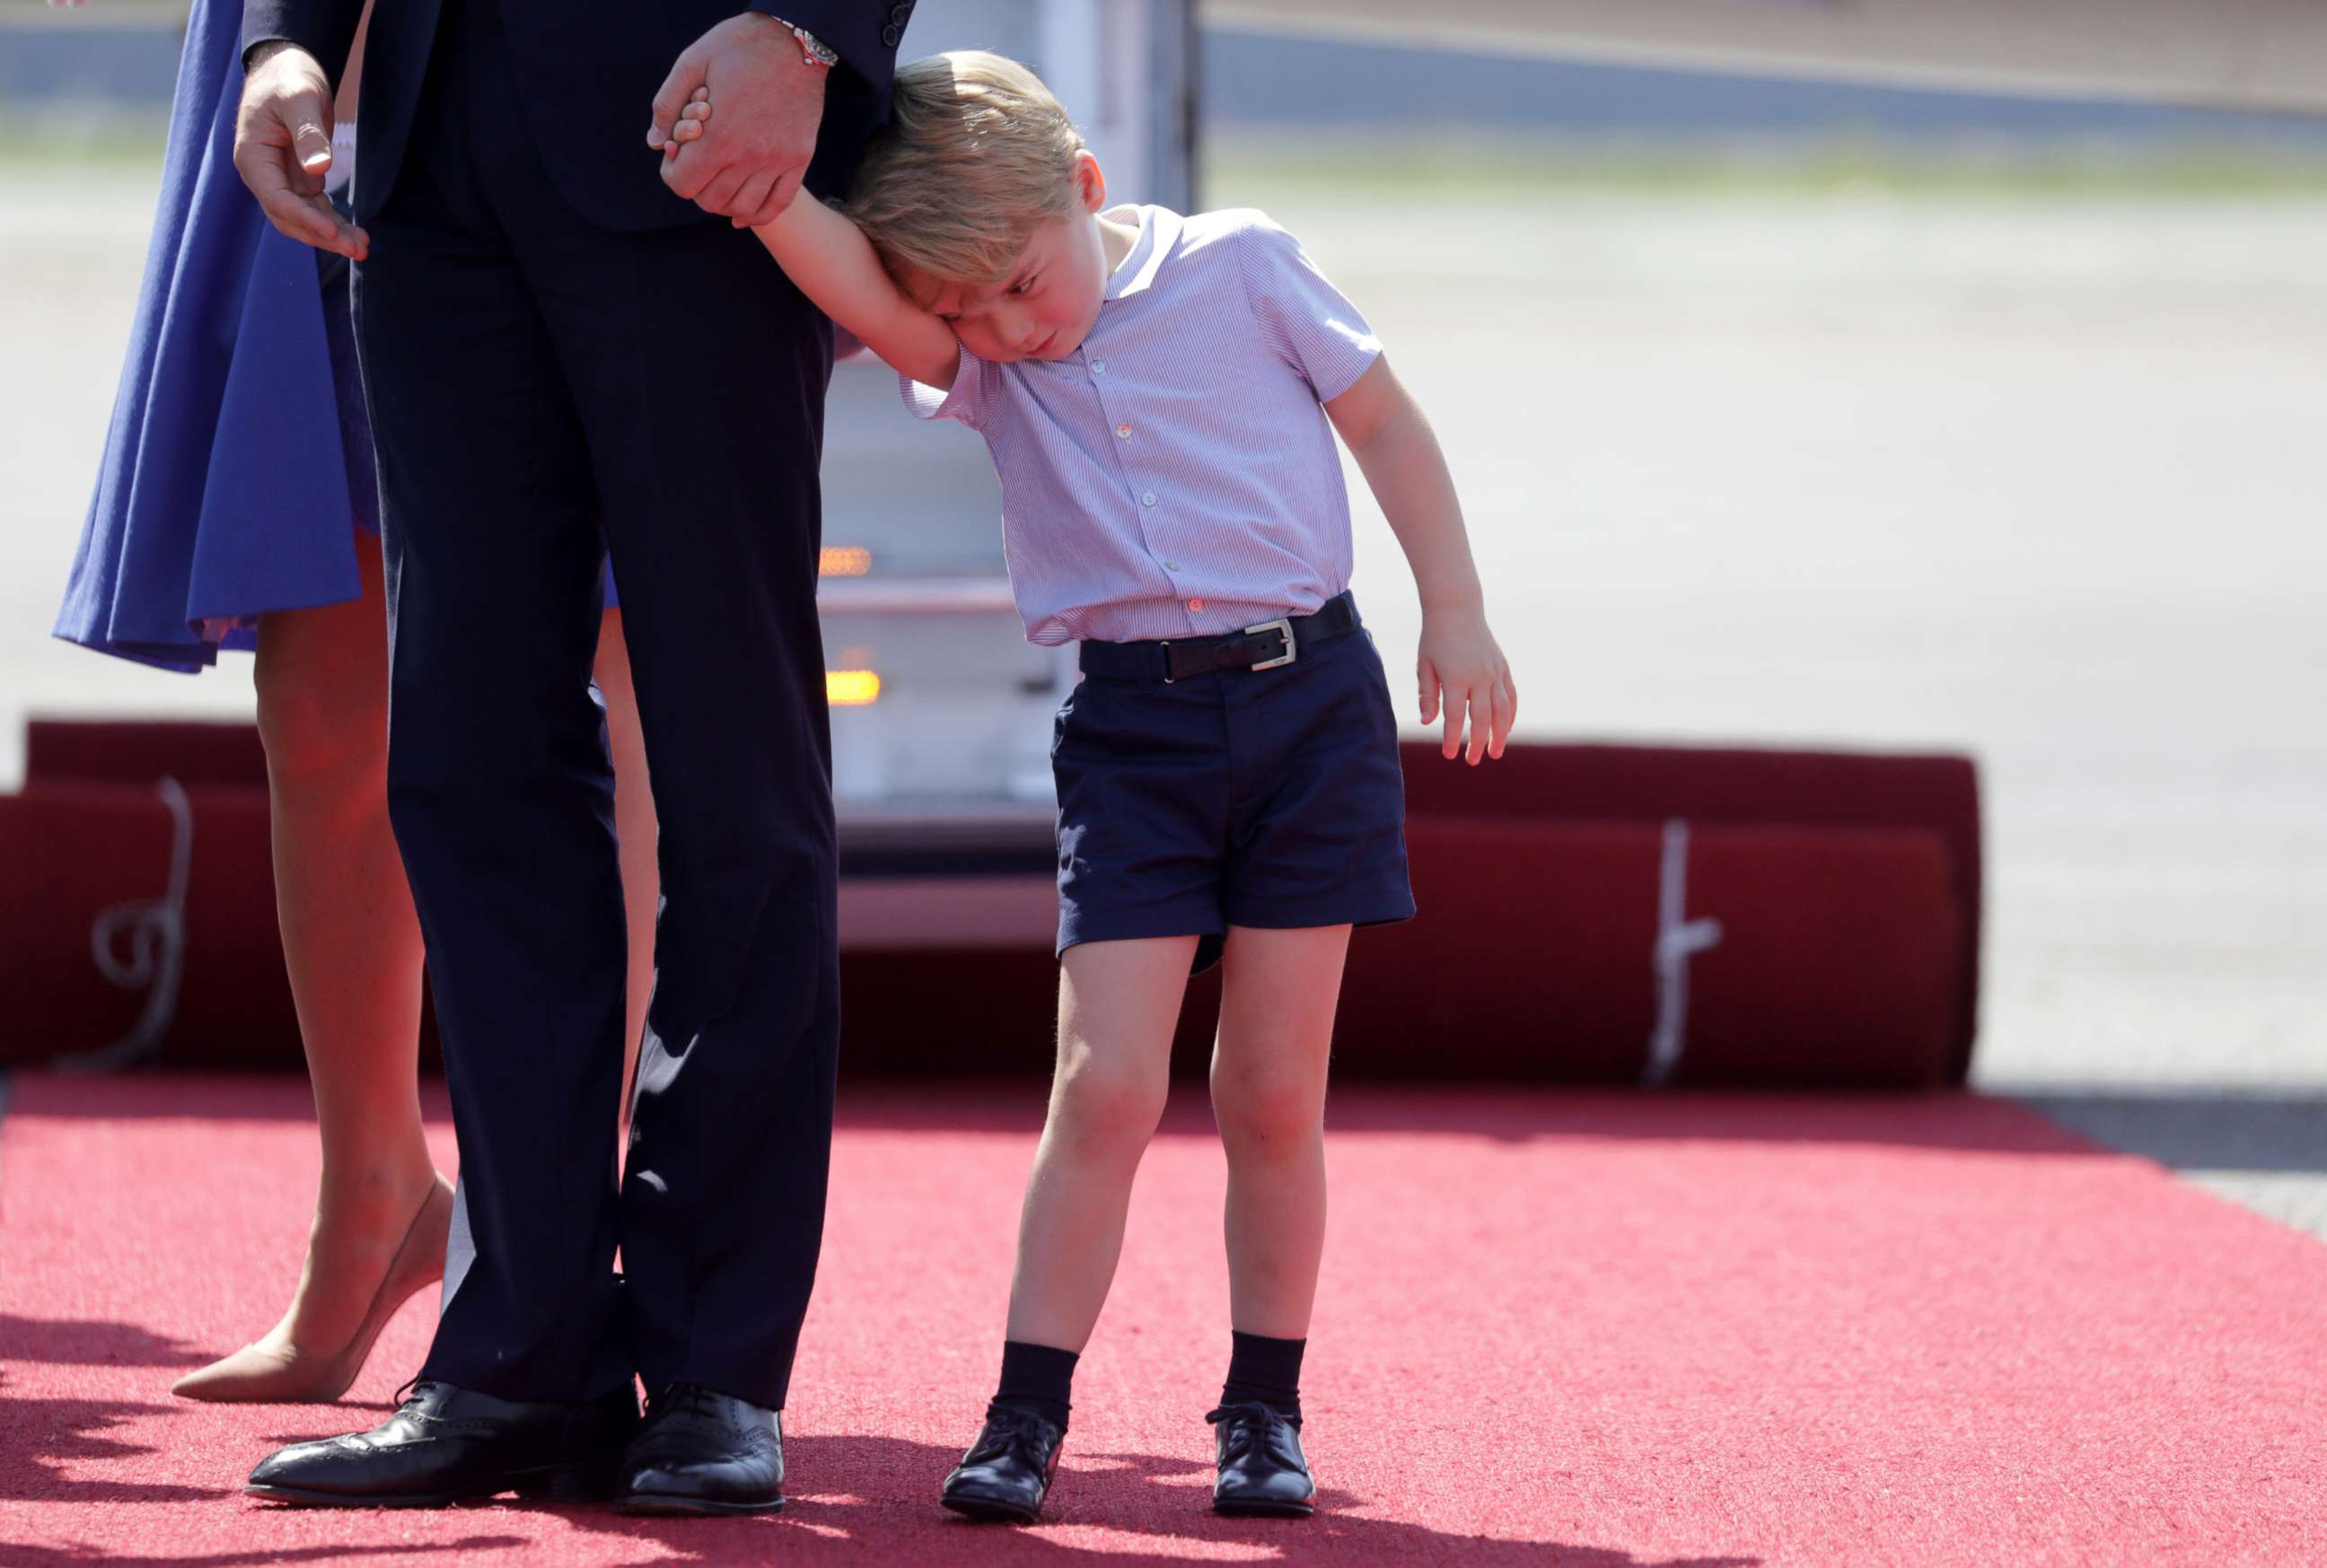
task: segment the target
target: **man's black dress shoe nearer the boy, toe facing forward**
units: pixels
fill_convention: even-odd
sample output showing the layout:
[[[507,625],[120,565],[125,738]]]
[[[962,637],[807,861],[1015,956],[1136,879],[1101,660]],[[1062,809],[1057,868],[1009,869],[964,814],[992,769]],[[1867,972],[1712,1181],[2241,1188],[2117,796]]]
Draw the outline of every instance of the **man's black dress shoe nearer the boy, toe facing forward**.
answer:
[[[784,1508],[784,1417],[675,1382],[647,1398],[621,1456],[614,1512],[775,1514]]]

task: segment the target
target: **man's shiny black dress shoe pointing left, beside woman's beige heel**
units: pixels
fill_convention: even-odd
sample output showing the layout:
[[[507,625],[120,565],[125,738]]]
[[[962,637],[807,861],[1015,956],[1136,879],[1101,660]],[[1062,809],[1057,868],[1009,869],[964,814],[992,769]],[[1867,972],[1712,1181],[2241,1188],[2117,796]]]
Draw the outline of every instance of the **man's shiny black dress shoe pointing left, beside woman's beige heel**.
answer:
[[[579,1503],[605,1496],[635,1431],[628,1387],[586,1405],[549,1405],[419,1382],[368,1433],[275,1449],[247,1489],[321,1508],[444,1508],[500,1491]]]

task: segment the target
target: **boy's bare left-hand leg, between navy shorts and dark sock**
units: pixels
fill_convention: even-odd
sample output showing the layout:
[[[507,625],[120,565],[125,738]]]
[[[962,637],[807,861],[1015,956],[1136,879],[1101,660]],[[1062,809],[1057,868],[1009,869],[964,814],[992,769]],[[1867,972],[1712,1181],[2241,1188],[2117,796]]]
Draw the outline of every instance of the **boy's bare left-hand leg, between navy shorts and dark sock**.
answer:
[[[1124,1249],[1131,1177],[1164,1114],[1196,938],[1082,942],[1059,965],[1059,1070],[1026,1182],[1010,1333],[1082,1352]]]

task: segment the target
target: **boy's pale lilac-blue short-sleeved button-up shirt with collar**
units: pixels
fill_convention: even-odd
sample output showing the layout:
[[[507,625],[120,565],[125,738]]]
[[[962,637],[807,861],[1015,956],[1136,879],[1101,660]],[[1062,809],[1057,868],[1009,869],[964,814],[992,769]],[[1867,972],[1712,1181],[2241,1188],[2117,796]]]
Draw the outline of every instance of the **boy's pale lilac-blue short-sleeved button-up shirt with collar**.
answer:
[[[1350,493],[1322,402],[1380,356],[1366,319],[1259,212],[1115,207],[1140,237],[1073,356],[961,351],[924,419],[987,437],[1033,642],[1208,637],[1350,586]]]

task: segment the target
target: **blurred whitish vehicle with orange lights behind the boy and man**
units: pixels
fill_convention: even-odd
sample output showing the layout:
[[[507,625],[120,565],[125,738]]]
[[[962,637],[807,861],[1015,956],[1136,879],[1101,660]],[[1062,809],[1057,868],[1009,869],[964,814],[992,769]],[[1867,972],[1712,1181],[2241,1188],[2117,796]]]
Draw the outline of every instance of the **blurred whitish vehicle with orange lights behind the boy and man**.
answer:
[[[1075,109],[1112,198],[1189,207],[1191,0],[947,0],[905,37],[915,58],[942,49],[1026,60]],[[863,354],[833,370],[826,405],[819,603],[847,875],[1042,879],[1075,651],[1026,642],[984,442],[915,421]]]

